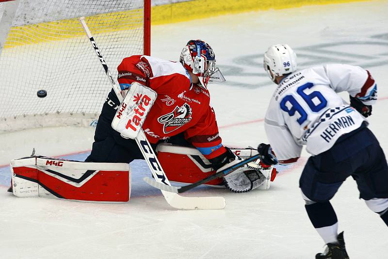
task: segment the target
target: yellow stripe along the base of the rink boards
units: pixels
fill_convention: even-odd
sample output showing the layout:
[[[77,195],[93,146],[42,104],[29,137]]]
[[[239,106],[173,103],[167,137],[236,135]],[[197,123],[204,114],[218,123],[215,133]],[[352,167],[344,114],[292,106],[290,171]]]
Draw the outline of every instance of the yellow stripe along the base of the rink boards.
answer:
[[[365,0],[190,0],[152,7],[151,24],[175,23],[250,11],[356,1]],[[88,16],[85,20],[94,34],[138,30],[143,26],[143,9]],[[78,19],[12,27],[4,48],[63,40],[75,36],[84,36]]]

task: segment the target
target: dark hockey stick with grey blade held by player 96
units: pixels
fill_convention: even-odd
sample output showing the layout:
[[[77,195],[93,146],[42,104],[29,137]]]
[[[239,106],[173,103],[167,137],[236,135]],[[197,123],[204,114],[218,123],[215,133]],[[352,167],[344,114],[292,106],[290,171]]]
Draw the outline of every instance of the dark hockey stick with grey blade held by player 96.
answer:
[[[143,180],[148,183],[149,185],[157,188],[157,189],[160,189],[160,190],[163,190],[163,191],[166,191],[166,192],[170,192],[170,193],[176,193],[176,194],[181,194],[181,193],[184,193],[186,191],[189,191],[191,189],[193,189],[194,187],[197,187],[198,185],[201,185],[201,184],[204,184],[204,183],[207,183],[208,181],[211,181],[212,179],[215,179],[215,178],[219,178],[219,177],[222,177],[226,174],[229,174],[231,172],[233,172],[234,170],[242,167],[243,165],[247,164],[247,163],[250,163],[250,162],[253,162],[255,160],[258,160],[260,158],[260,155],[257,154],[253,157],[250,157],[246,160],[243,160],[242,162],[239,162],[239,163],[236,163],[230,167],[227,167],[225,168],[224,170],[220,171],[220,172],[217,172],[215,173],[214,175],[211,175],[207,178],[203,178],[202,180],[199,180],[197,182],[194,182],[192,184],[188,184],[188,185],[184,185],[184,186],[181,186],[181,187],[176,187],[176,186],[170,186],[170,185],[165,185],[165,184],[162,184],[160,182],[157,182],[149,177],[145,177],[143,178]]]

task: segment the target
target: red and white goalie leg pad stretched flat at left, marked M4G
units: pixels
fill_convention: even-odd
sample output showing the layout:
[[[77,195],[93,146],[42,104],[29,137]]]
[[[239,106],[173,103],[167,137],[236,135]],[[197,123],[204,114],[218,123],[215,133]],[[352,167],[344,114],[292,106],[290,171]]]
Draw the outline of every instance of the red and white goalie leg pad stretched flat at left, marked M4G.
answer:
[[[127,202],[127,163],[92,163],[34,156],[11,161],[17,197],[50,197],[93,202]]]

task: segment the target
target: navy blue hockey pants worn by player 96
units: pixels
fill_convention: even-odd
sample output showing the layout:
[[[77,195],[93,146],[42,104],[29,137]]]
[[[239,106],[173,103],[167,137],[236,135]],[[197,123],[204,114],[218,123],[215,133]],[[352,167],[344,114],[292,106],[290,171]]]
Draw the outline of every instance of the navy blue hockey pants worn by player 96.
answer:
[[[372,131],[361,126],[339,138],[329,150],[308,159],[299,180],[303,194],[325,202],[346,178],[357,183],[360,198],[388,198],[388,165]]]

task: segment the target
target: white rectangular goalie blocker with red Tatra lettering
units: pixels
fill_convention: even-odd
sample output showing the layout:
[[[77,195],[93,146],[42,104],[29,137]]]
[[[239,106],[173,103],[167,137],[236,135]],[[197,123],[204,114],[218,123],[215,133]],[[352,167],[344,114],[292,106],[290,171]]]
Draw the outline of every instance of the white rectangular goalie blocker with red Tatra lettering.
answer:
[[[123,138],[135,139],[156,97],[151,88],[133,82],[113,118],[112,128]]]

